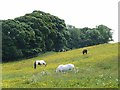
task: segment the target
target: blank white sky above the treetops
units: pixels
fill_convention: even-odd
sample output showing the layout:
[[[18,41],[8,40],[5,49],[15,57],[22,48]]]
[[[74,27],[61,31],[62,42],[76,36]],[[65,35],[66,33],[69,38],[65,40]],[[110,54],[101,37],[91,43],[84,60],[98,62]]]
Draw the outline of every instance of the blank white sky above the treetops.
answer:
[[[118,41],[119,0],[0,0],[0,19],[14,19],[34,10],[44,11],[77,28],[106,25]]]

